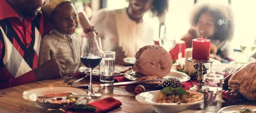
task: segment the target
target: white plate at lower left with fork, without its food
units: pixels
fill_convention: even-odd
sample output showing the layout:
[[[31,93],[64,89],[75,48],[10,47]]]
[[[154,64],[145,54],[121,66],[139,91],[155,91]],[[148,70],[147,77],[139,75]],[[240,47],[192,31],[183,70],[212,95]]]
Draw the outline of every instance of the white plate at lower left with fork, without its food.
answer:
[[[81,88],[74,88],[74,87],[68,87],[68,86],[54,86],[54,87],[43,87],[43,88],[35,88],[32,90],[24,91],[22,96],[24,99],[34,102],[35,105],[39,107],[44,108],[58,108],[62,107],[64,105],[67,105],[67,103],[57,104],[57,103],[44,103],[44,102],[37,102],[38,99],[37,96],[44,96],[46,94],[60,94],[60,93],[73,93],[76,95],[88,95],[87,91]],[[79,97],[77,101],[84,99],[84,97]]]

